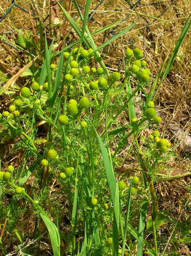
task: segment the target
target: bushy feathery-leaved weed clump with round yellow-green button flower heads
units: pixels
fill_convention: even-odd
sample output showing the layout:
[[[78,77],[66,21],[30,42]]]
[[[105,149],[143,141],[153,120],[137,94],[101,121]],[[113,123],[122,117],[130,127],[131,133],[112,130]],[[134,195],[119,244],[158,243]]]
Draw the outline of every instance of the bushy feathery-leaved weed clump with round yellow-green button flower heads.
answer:
[[[152,180],[155,179],[158,167],[164,163],[165,157],[169,157],[168,151],[171,152],[171,143],[160,138],[157,130],[148,138],[143,138],[143,144],[140,140],[142,131],[156,129],[161,122],[154,102],[148,100],[144,91],[145,86],[149,86],[150,71],[146,68],[147,63],[143,59],[142,51],[137,48],[134,51],[126,49],[125,76],[119,72],[109,74],[103,63],[102,67],[96,68],[94,54],[93,49],[76,47],[72,51],[62,51],[57,64],[47,64],[46,61],[50,60],[47,54],[39,80],[33,81],[29,87],[22,88],[20,95],[10,100],[10,106],[3,111],[0,119],[4,127],[1,140],[5,141],[7,136],[17,138],[15,147],[17,150],[23,150],[25,156],[23,166],[15,169],[10,165],[5,172],[0,172],[1,186],[4,188],[1,201],[6,205],[4,200],[8,188],[11,188],[13,193],[11,200],[18,199],[15,204],[19,204],[19,196],[26,198],[33,206],[34,213],[42,218],[39,218],[38,227],[43,220],[48,230],[52,227],[61,236],[54,241],[50,233],[54,255],[60,253],[60,239],[66,244],[67,249],[63,251],[75,255],[76,236],[84,237],[83,243],[79,244],[81,253],[87,246],[88,255],[93,255],[95,251],[100,252],[97,255],[109,255],[111,251],[114,254],[118,250],[119,255],[131,255],[137,244],[134,238],[139,236],[135,224],[137,214],[139,215],[138,202],[147,200],[148,204],[151,196],[154,202],[151,203],[151,216],[155,224],[158,210]],[[132,79],[134,88],[131,87]],[[139,102],[142,116],[137,118],[134,97],[139,92],[144,93],[146,102]],[[129,123],[121,127],[116,118],[124,112],[128,114]],[[40,124],[43,124],[47,131],[47,136],[43,139],[38,138]],[[100,136],[96,132],[99,130]],[[115,136],[118,136],[118,142],[112,154],[110,141],[114,140]],[[134,139],[126,157],[132,154],[132,148],[135,148],[134,154],[140,163],[140,177],[134,176],[130,180],[123,175],[117,181],[114,163],[121,160],[116,154],[130,137]],[[102,141],[105,141],[105,146]],[[99,148],[102,151],[105,170]],[[27,191],[26,186],[26,180],[31,175],[36,178],[32,193]],[[52,202],[51,197],[47,196],[52,179],[56,179],[59,184],[57,195],[67,195],[69,208],[66,214],[70,218],[72,228],[68,234],[70,239],[65,238],[62,230],[59,230],[59,225],[56,227],[50,221],[49,216],[57,216],[60,223],[62,211],[65,211],[61,202]],[[142,191],[144,196],[139,198],[138,195],[141,195]],[[135,196],[132,200],[131,195]],[[128,205],[128,217],[123,216],[125,204]],[[134,211],[129,212],[130,207]],[[2,212],[2,217],[7,214]],[[115,227],[113,215],[115,218],[116,214],[119,223]],[[135,225],[135,228],[126,236],[126,230],[132,228],[128,227],[128,221],[130,225]],[[6,226],[11,227],[12,224]],[[155,233],[155,225],[153,227]],[[15,220],[14,230],[17,229],[19,227]],[[15,235],[20,242],[23,241],[24,237],[21,237],[19,232],[15,232]],[[145,245],[145,252],[155,255],[151,246]],[[157,250],[156,239],[155,247]]]

